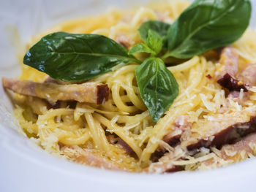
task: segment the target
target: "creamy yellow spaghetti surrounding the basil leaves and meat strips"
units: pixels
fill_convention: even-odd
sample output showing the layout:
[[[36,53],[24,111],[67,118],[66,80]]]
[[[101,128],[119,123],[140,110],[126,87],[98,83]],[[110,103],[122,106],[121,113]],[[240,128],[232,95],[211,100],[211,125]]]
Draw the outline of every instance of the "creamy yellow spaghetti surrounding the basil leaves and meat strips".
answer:
[[[138,28],[143,22],[162,20],[173,23],[188,5],[187,2],[170,1],[164,7],[158,6],[154,9],[140,7],[131,12],[115,10],[94,18],[71,20],[33,37],[27,46],[31,47],[50,32],[66,31],[75,34],[102,34],[115,40],[125,39],[131,47],[141,42]],[[256,62],[254,31],[247,30],[233,47],[239,55],[239,67]],[[136,56],[145,57],[143,54]],[[58,108],[49,109],[48,103],[42,99],[17,94],[15,116],[28,137],[37,138],[39,145],[50,153],[91,166],[97,166],[99,160],[95,159],[99,157],[103,163],[98,163],[109,163],[111,169],[140,172],[145,167],[150,167],[151,157],[159,145],[168,151],[173,150],[162,139],[167,133],[175,131],[174,123],[178,117],[187,115],[192,122],[192,131],[203,131],[201,125],[218,117],[226,98],[225,91],[216,80],[207,78],[215,76],[217,62],[208,60],[204,55],[194,56],[180,65],[167,66],[176,77],[179,94],[165,115],[154,123],[140,98],[135,79],[137,66],[118,66],[113,72],[89,80],[108,84],[110,96],[105,104],[60,101]],[[23,64],[21,67],[21,80],[43,82],[46,78],[46,74],[36,69]],[[230,112],[249,109],[255,102],[256,91],[246,101],[245,106],[231,102]],[[116,138],[121,139],[126,146],[116,145],[113,141]],[[128,154],[126,149],[132,152]],[[178,151],[171,157],[165,155],[160,161],[185,166],[185,170],[206,169],[206,165],[200,162],[213,158],[219,164],[230,164],[219,158],[217,149],[200,149],[197,157],[184,150],[180,150],[180,153]],[[178,158],[181,156],[185,156],[187,160],[181,161]]]

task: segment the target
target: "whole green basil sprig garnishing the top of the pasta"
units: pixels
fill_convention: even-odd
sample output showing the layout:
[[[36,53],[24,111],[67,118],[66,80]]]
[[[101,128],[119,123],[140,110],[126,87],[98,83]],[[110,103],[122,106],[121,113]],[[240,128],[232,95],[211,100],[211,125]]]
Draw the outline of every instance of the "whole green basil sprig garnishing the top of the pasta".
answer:
[[[108,37],[97,34],[48,34],[26,53],[23,63],[58,80],[90,80],[118,65],[141,64],[132,54],[150,57],[135,70],[140,96],[157,122],[178,95],[178,83],[166,68],[168,57],[191,58],[235,42],[249,25],[249,0],[196,0],[172,24],[143,23],[143,43],[129,52]]]

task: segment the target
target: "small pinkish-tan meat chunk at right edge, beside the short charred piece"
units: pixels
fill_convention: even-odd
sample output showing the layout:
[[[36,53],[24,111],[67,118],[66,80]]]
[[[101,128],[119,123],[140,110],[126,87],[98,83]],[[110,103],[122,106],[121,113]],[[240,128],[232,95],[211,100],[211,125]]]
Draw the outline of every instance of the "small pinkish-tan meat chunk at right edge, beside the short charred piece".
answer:
[[[245,69],[239,74],[238,80],[247,86],[256,85],[256,64],[247,64]]]

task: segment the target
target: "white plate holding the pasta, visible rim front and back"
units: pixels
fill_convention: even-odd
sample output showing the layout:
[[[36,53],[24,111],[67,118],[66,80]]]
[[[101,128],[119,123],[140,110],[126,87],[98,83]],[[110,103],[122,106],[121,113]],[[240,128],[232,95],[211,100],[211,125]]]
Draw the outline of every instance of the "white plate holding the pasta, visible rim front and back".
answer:
[[[256,8],[255,0],[252,0]],[[140,1],[140,4],[147,2]],[[105,7],[133,7],[135,1],[18,1],[1,2],[0,77],[19,74],[7,25],[18,28],[26,40],[67,18],[105,12]],[[138,6],[138,3],[136,3]],[[113,6],[112,6],[113,7]],[[253,12],[251,26],[256,26]],[[12,30],[13,31],[13,30]],[[1,82],[0,82],[1,84]],[[131,174],[81,166],[54,157],[19,134],[12,104],[0,86],[0,191],[255,191],[256,158],[206,172]],[[16,130],[15,130],[16,129]]]

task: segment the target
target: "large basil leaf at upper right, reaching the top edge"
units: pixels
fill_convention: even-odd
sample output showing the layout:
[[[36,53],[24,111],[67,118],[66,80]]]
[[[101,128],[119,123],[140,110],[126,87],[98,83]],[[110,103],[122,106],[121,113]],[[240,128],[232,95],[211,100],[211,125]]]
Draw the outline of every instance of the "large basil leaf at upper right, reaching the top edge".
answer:
[[[251,12],[249,0],[196,0],[170,27],[163,58],[191,58],[230,45],[246,30]]]

